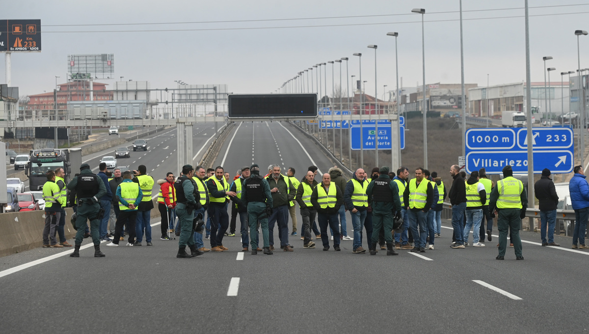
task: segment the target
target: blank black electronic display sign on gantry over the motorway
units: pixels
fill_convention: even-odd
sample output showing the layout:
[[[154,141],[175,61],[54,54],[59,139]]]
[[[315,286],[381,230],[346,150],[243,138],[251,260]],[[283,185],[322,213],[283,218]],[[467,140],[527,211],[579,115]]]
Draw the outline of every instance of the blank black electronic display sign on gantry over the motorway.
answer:
[[[317,94],[231,94],[229,118],[316,117]]]

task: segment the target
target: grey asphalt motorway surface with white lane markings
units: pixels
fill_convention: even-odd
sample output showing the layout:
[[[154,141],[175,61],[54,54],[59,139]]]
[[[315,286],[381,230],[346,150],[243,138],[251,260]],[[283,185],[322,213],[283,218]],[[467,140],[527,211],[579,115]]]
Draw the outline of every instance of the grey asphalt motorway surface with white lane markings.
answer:
[[[312,163],[286,129],[326,172],[329,160],[296,129],[283,125],[258,122],[236,128],[224,162],[231,175],[251,165],[253,146],[253,161],[262,170],[280,162],[296,168],[300,179]],[[142,162],[154,155],[153,161],[145,160],[148,171],[160,161],[160,169],[151,173],[165,170],[161,155],[166,150],[161,145],[171,149],[176,142],[168,145],[168,135],[174,133],[162,132],[150,140],[150,146],[160,144],[150,154],[135,152]],[[152,223],[157,236],[159,223]],[[296,237],[290,239],[294,252],[277,248],[272,256],[250,255],[240,251],[239,232],[224,238],[229,250],[192,259],[175,257],[177,239],[154,238],[153,246],[132,248],[107,248],[102,243],[105,258],[92,256],[88,239],[82,247],[90,247],[81,250],[80,258],[68,256],[72,249],[29,250],[0,262],[2,332],[587,331],[589,252],[570,249],[570,238],[557,236],[560,248],[541,247],[538,233],[523,232],[525,260],[515,260],[512,248],[505,260],[495,260],[497,236],[484,248],[451,249],[452,230],[448,222],[443,226],[435,250],[398,250],[399,256],[385,256],[383,251],[376,256],[353,254],[352,241],[342,241],[341,252],[325,252],[320,243],[303,249]],[[362,246],[368,248],[366,239]]]

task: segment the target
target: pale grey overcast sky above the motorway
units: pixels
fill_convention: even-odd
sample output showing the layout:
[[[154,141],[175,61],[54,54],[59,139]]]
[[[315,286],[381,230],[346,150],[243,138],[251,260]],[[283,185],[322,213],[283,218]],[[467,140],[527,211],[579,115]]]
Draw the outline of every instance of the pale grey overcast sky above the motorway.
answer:
[[[557,69],[551,79],[560,82],[560,72],[577,69],[574,31],[589,31],[589,0],[530,0],[529,5],[532,81],[544,81],[542,56],[552,56],[547,67]],[[490,85],[525,81],[524,1],[465,0],[462,6],[465,82],[486,86],[487,75]],[[71,54],[112,53],[115,78],[150,81],[151,88],[172,88],[181,80],[227,84],[234,93],[268,93],[299,71],[341,57],[350,58],[349,75],[358,79],[355,52],[362,53],[362,79],[372,95],[375,51],[367,46],[376,44],[382,98],[383,85],[395,87],[395,38],[387,32],[399,33],[403,86],[422,84],[421,15],[412,8],[426,9],[426,84],[460,83],[458,0],[22,0],[3,1],[0,19],[41,19],[42,52],[12,54],[12,86],[19,86],[21,95],[51,91],[55,75],[64,82]],[[187,31],[166,31],[173,29]],[[587,68],[589,35],[581,36],[580,50],[581,68]],[[345,87],[345,62],[342,68]],[[331,75],[327,66],[329,92]],[[337,85],[339,66],[335,77]],[[0,82],[5,83],[5,66]]]

